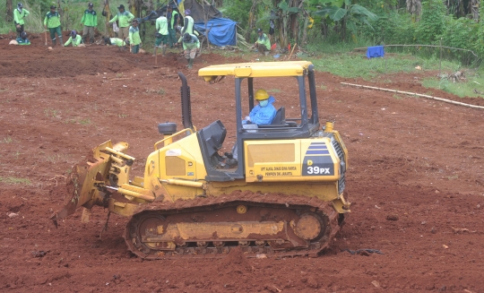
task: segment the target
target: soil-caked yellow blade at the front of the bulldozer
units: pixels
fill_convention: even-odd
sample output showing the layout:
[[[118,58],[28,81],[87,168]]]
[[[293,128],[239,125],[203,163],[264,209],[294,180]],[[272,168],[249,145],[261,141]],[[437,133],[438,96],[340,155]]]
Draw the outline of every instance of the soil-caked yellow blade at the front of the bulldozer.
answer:
[[[93,205],[107,207],[103,193],[99,192],[96,183],[104,183],[105,175],[109,168],[109,155],[101,151],[106,147],[112,148],[112,143],[104,142],[92,150],[93,156],[87,162],[73,166],[73,171],[67,177],[65,207],[56,211],[50,220],[54,221],[57,227],[57,220],[72,215],[80,207],[91,209]]]

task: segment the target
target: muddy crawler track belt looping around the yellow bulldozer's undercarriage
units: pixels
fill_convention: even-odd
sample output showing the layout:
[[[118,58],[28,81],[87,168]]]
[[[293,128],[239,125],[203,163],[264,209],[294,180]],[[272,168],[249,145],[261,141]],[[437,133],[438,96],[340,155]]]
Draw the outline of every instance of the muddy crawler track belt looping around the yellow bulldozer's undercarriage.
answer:
[[[278,247],[278,243],[271,237],[264,238],[264,235],[251,235],[243,241],[244,246],[240,245],[240,238],[238,239],[220,239],[215,236],[209,239],[203,239],[202,247],[197,246],[196,240],[180,241],[177,237],[174,237],[171,241],[158,241],[160,247],[147,246],[146,241],[150,241],[150,235],[145,235],[145,230],[151,230],[153,227],[150,220],[157,220],[163,222],[164,220],[170,220],[171,222],[177,222],[176,219],[189,219],[197,222],[198,224],[208,224],[206,221],[196,219],[203,218],[203,212],[205,215],[213,215],[217,217],[216,213],[227,213],[232,211],[236,214],[238,207],[244,206],[249,210],[253,209],[255,213],[260,211],[271,211],[272,213],[279,213],[280,220],[283,221],[286,226],[289,226],[290,218],[299,215],[298,220],[306,216],[309,219],[319,219],[321,223],[321,232],[316,232],[313,240],[307,241],[306,245],[299,242],[299,246],[295,247]],[[310,215],[309,217],[307,215]],[[237,215],[236,215],[237,216]],[[247,216],[249,217],[249,216]],[[275,217],[275,216],[272,216]],[[286,218],[284,218],[286,217]],[[227,217],[223,217],[220,214],[220,221],[215,224],[222,223]],[[189,221],[188,220],[188,221]],[[213,221],[213,220],[212,220]],[[147,222],[148,224],[145,224]],[[268,223],[272,221],[259,221],[256,223]],[[237,222],[231,222],[236,224]],[[252,222],[251,222],[252,223]],[[294,257],[294,256],[317,256],[321,254],[324,249],[331,245],[331,242],[339,231],[343,223],[341,214],[334,211],[331,203],[323,202],[317,198],[308,198],[301,195],[281,195],[281,194],[252,194],[236,192],[229,195],[223,195],[219,197],[209,196],[206,198],[195,198],[194,200],[177,201],[175,203],[152,203],[150,206],[140,207],[135,211],[132,219],[126,224],[125,228],[125,243],[129,250],[147,260],[157,259],[177,259],[177,258],[220,258],[228,254],[230,249],[239,246],[242,252],[247,257]],[[196,225],[193,223],[187,223],[187,220],[181,222],[178,220],[176,224]],[[212,223],[213,224],[213,223]],[[148,226],[147,226],[148,225]],[[274,224],[275,225],[275,224]],[[159,227],[162,225],[160,224]],[[202,225],[203,226],[203,225]],[[273,225],[272,225],[273,226]],[[167,225],[165,224],[165,226]],[[289,238],[289,242],[295,242],[298,237],[294,237],[292,228],[289,228],[292,237]],[[216,234],[217,231],[214,232]],[[319,233],[319,234],[318,234]],[[158,234],[152,235],[152,237],[159,237]],[[223,240],[223,241],[220,241]],[[301,240],[298,238],[298,240]],[[154,240],[153,240],[154,242]],[[173,245],[177,242],[176,247]],[[287,241],[288,242],[288,241]],[[171,245],[171,247],[169,246]]]

